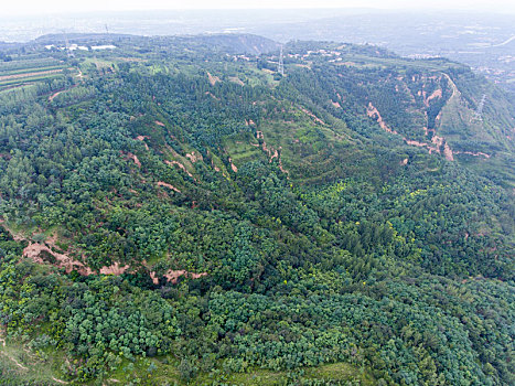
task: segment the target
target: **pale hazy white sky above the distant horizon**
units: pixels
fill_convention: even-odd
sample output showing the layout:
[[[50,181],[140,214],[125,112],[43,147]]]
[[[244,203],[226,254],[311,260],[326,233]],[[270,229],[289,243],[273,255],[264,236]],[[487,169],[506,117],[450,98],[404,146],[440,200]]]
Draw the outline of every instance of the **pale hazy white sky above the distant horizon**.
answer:
[[[378,8],[463,9],[515,13],[514,0],[2,0],[0,17],[152,9]]]

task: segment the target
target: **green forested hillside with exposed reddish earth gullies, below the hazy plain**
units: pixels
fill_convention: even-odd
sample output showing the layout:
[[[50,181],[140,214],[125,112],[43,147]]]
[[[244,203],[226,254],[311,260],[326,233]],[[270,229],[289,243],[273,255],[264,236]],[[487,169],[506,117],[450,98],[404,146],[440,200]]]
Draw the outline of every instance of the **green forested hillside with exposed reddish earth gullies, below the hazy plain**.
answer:
[[[57,71],[0,88],[0,385],[515,384],[502,89],[371,45],[288,43],[282,76],[259,36],[99,39],[0,56]]]

